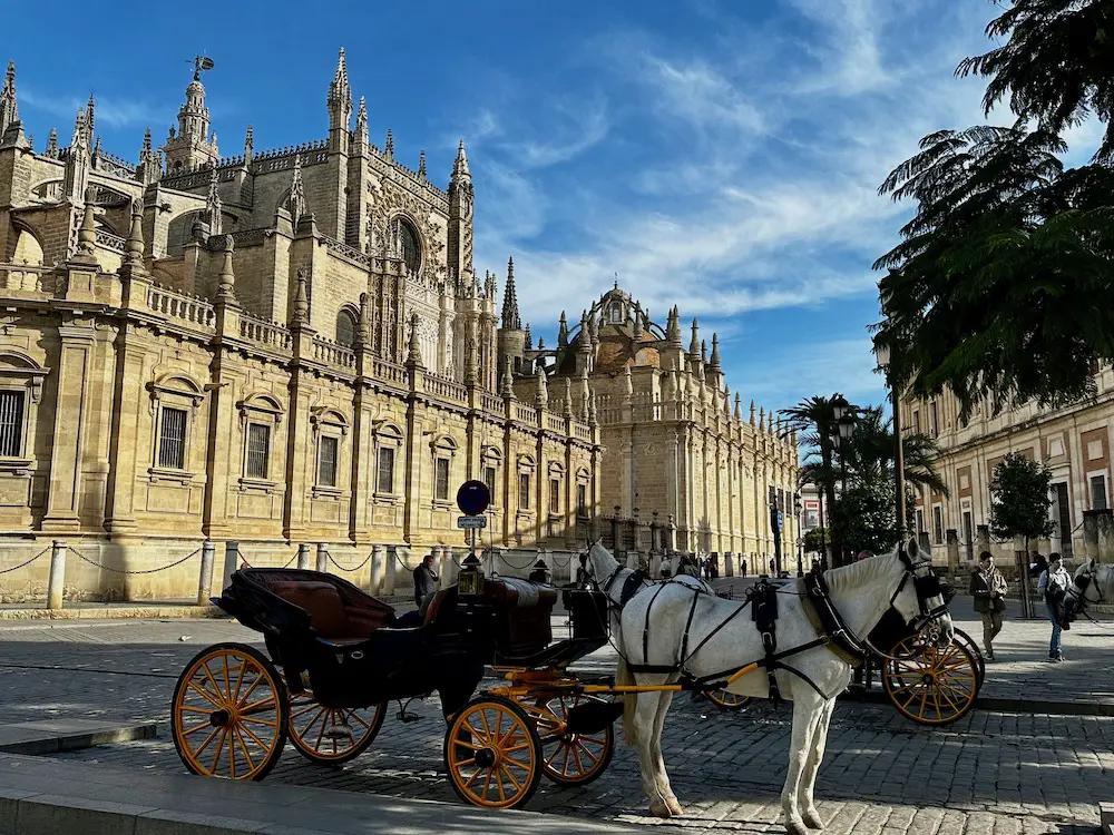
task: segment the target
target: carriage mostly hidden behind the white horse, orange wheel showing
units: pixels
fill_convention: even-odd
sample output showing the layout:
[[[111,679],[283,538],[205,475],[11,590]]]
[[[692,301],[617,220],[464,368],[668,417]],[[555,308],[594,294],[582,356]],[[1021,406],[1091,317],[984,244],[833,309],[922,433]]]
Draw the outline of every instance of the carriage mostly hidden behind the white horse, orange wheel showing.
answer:
[[[950,591],[947,597],[950,599]],[[882,691],[906,718],[944,726],[974,709],[986,677],[986,661],[967,632],[956,629],[951,644],[941,649],[925,641],[891,609],[871,630],[868,642],[885,650],[868,656],[857,686],[869,690],[878,672]],[[707,697],[725,710],[741,710],[751,701],[724,689],[710,690]]]

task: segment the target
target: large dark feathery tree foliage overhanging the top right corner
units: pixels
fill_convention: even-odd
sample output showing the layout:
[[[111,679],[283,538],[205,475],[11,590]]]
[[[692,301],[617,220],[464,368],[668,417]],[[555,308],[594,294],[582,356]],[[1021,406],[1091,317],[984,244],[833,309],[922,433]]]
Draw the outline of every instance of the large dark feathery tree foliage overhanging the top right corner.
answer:
[[[911,198],[903,240],[876,263],[891,382],[917,396],[950,389],[966,421],[1035,400],[1095,393],[1114,360],[1114,42],[1110,0],[1015,0],[987,27],[1006,42],[957,75],[988,77],[989,114],[1013,127],[926,136],[880,187]],[[1064,130],[1106,122],[1089,165],[1065,169]]]

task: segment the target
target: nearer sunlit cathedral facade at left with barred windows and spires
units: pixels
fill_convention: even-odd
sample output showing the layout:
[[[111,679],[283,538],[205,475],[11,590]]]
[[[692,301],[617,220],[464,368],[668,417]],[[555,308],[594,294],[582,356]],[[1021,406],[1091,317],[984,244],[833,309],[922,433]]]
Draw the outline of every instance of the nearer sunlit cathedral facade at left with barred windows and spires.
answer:
[[[507,340],[496,279],[472,268],[463,143],[447,189],[424,159],[397,163],[390,135],[373,146],[362,99],[352,126],[342,50],[328,138],[256,153],[248,129],[243,154],[221,157],[199,75],[136,165],[101,149],[92,99],[68,147],[51,131],[33,149],[9,66],[0,551],[61,538],[108,567],[78,562],[67,595],[190,597],[196,569],[120,572],[205,538],[263,564],[303,542],[349,563],[373,543],[462,547],[469,478],[494,487],[485,544],[583,542],[600,432],[500,386]],[[0,574],[0,596],[43,577],[41,560]]]

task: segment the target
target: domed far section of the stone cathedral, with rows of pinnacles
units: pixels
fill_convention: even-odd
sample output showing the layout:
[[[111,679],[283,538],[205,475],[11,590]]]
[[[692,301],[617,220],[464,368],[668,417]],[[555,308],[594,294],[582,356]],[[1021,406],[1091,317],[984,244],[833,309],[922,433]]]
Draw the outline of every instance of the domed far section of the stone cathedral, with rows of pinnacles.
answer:
[[[508,288],[509,291],[509,288]],[[505,316],[502,337],[519,322]],[[712,554],[721,573],[769,570],[774,557],[771,509],[782,512],[782,566],[795,564],[799,520],[795,436],[778,431],[765,410],[732,400],[721,366],[692,323],[682,344],[680,313],[665,328],[618,284],[569,327],[557,345],[535,348],[528,327],[516,335],[516,392],[546,397],[554,411],[598,421],[605,446],[600,521],[605,543],[619,551]],[[532,370],[532,371],[531,371]],[[595,393],[595,397],[592,396]],[[554,405],[554,403],[557,405]]]

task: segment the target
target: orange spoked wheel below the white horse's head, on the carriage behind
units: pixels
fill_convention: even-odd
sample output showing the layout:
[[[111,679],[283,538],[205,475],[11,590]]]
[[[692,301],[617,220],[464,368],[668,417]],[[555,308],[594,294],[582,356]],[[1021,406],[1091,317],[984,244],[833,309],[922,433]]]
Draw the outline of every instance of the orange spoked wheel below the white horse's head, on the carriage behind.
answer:
[[[940,649],[920,636],[898,641],[886,660],[882,685],[898,711],[921,725],[950,725],[975,707],[978,662],[961,644]]]

